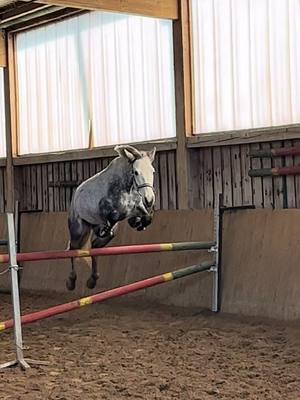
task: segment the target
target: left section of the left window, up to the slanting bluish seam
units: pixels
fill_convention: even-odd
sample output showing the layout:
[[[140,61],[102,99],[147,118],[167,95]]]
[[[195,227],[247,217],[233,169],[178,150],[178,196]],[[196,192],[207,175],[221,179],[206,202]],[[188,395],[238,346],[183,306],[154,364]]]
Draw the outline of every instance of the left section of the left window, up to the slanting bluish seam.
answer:
[[[73,21],[17,35],[19,153],[88,146]]]

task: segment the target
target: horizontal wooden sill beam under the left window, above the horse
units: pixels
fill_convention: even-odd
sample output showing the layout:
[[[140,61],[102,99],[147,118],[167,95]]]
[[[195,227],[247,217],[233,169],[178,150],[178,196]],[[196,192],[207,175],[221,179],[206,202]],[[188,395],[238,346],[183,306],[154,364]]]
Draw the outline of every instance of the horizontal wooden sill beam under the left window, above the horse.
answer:
[[[168,151],[175,150],[177,147],[176,140],[170,139],[165,141],[147,141],[132,143],[133,146],[141,150],[150,150],[154,146],[157,151]],[[44,153],[44,154],[34,154],[26,156],[14,157],[13,163],[15,166],[21,165],[32,165],[32,164],[45,164],[51,162],[61,162],[61,161],[78,161],[87,160],[92,158],[106,158],[115,157],[117,153],[114,151],[115,146],[99,147],[91,150],[71,150],[62,151],[57,153]]]

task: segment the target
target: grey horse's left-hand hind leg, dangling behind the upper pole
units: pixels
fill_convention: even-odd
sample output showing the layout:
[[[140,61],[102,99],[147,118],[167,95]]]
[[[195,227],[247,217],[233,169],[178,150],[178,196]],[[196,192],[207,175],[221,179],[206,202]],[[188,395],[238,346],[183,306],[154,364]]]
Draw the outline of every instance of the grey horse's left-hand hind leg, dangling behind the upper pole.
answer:
[[[69,232],[70,243],[69,250],[81,249],[87,242],[90,234],[90,226],[82,219],[69,219]],[[68,290],[74,290],[76,286],[76,271],[74,265],[74,258],[71,258],[71,272],[66,280],[66,287]]]

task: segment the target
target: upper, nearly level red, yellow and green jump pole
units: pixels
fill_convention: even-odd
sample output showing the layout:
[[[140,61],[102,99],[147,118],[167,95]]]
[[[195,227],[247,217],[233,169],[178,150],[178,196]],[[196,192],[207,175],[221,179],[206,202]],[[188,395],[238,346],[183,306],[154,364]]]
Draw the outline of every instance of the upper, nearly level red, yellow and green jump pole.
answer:
[[[17,262],[57,260],[73,257],[75,258],[90,256],[113,256],[121,254],[157,253],[164,251],[209,250],[213,248],[214,245],[214,242],[179,242],[102,247],[100,249],[35,251],[32,253],[18,253]],[[0,255],[0,264],[7,263],[8,261],[8,254]]]

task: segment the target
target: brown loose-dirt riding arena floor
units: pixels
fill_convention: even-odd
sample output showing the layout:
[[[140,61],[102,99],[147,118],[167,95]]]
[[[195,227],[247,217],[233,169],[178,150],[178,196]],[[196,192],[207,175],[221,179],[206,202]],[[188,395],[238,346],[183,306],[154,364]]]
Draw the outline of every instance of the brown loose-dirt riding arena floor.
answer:
[[[0,299],[5,319],[10,296]],[[22,309],[68,299],[26,294]],[[300,399],[297,324],[157,306],[133,297],[28,325],[24,344],[26,357],[46,365],[25,373],[1,371],[3,400]],[[4,332],[0,362],[13,355],[12,332]]]

